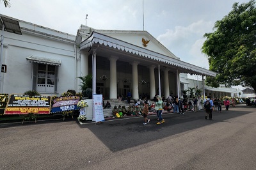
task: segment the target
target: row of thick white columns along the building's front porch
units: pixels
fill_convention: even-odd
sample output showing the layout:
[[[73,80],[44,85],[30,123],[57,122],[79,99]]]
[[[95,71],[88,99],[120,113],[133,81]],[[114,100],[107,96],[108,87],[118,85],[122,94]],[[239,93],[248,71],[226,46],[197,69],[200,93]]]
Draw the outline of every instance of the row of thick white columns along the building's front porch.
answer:
[[[88,52],[81,53],[81,75],[86,76],[88,75]],[[108,58],[110,61],[110,84],[109,84],[109,98],[116,99],[117,98],[117,86],[116,86],[116,61],[118,57],[111,56]],[[132,65],[132,98],[138,99],[139,98],[139,86],[138,86],[138,65],[140,62],[134,61],[131,63]],[[156,95],[156,84],[155,84],[155,68],[156,66],[148,66],[149,73],[150,73],[150,98],[154,98]],[[96,68],[95,68],[96,69]],[[160,69],[160,68],[158,68]],[[167,98],[170,96],[170,89],[169,89],[169,74],[168,69],[164,69],[164,97]],[[160,74],[160,73],[159,73]],[[160,75],[158,75],[160,77]],[[177,70],[177,91],[179,91],[179,72]],[[160,81],[160,78],[159,78]],[[159,91],[161,91],[161,85],[159,85]],[[177,93],[179,94],[179,93]]]

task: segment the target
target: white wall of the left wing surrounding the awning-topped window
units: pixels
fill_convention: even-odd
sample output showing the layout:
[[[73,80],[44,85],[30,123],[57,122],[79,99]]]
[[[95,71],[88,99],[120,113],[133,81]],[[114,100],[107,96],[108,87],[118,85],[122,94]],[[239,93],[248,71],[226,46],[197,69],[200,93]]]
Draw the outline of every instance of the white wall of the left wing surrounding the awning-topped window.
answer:
[[[7,65],[7,72],[2,73],[1,93],[24,93],[32,89],[31,63],[26,60],[31,55],[61,60],[58,70],[58,93],[55,95],[60,95],[68,89],[76,89],[76,54],[73,43],[31,35],[26,31],[22,32],[22,35],[4,31],[4,46],[6,45],[8,47],[4,48],[2,64]]]

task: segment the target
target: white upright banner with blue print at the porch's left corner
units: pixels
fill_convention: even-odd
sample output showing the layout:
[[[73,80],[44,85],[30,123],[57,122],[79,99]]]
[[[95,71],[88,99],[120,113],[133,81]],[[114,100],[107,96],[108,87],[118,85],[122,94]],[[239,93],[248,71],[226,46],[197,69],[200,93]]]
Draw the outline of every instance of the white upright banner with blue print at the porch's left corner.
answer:
[[[104,121],[102,95],[93,95],[93,121]]]

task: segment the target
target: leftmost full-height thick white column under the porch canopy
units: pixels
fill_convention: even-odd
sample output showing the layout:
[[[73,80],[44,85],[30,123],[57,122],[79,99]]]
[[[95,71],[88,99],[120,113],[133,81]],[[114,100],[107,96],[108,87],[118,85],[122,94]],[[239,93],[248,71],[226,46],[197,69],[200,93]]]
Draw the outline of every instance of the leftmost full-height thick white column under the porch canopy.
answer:
[[[110,83],[109,83],[109,98],[117,98],[117,84],[116,84],[116,61],[117,57],[111,56],[110,61]]]

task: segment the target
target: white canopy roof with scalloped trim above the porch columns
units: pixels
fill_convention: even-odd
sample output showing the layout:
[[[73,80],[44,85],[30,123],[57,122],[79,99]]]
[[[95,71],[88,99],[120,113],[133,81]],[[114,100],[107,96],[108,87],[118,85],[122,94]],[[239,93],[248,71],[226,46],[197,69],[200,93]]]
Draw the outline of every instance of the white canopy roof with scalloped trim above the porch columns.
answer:
[[[89,38],[80,43],[80,50],[97,47],[98,45],[111,49],[116,49],[118,51],[129,53],[134,56],[140,56],[140,58],[138,59],[141,60],[143,60],[143,58],[147,58],[151,61],[154,61],[154,63],[161,63],[161,65],[164,65],[166,68],[175,68],[183,73],[216,76],[215,72],[212,72],[205,68],[191,65],[189,63],[180,61],[179,59],[171,58],[169,56],[164,56],[163,54],[159,54],[152,50],[138,47],[136,45],[132,45],[131,43],[127,43],[122,40],[112,38],[110,36],[102,35],[95,31],[92,32],[92,35]]]

